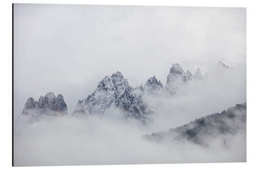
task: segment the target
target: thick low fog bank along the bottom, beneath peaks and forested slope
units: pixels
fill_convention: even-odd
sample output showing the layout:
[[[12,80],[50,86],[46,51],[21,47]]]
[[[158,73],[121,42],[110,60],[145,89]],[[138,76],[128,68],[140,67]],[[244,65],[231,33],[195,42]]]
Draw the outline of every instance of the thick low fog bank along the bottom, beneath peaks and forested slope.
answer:
[[[229,148],[219,138],[209,148],[191,142],[154,143],[141,138],[147,130],[137,122],[99,117],[41,120],[16,132],[15,166],[246,161],[244,132],[230,136]]]

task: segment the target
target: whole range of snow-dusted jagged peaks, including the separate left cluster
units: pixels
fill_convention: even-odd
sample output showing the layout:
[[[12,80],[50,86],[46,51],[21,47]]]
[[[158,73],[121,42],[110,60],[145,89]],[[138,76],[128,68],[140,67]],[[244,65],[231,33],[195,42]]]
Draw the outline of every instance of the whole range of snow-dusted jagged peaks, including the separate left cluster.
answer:
[[[184,72],[179,63],[175,63],[169,70],[165,88],[155,76],[149,78],[144,85],[130,86],[121,72],[117,71],[112,76],[105,76],[93,93],[83,100],[79,100],[72,115],[104,114],[110,108],[124,111],[125,116],[136,119],[150,119],[153,108],[148,106],[144,95],[159,96],[162,94],[175,94],[176,90],[191,80],[202,80],[200,69],[193,75],[189,70]],[[165,92],[167,91],[167,93]],[[35,112],[36,114],[63,115],[67,114],[67,105],[61,94],[57,97],[53,92],[40,96],[38,102],[29,98],[22,114]]]

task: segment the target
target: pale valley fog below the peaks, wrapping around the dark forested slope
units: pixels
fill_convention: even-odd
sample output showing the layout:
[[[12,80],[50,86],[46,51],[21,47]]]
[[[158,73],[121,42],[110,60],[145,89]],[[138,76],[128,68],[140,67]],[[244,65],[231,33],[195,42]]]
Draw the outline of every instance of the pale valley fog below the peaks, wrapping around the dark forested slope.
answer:
[[[152,142],[144,134],[168,131],[195,118],[246,101],[245,67],[209,69],[202,81],[181,86],[174,95],[143,96],[155,108],[151,123],[123,118],[118,109],[103,116],[46,116],[14,124],[14,165],[89,165],[246,161],[246,131],[202,147],[190,141]]]

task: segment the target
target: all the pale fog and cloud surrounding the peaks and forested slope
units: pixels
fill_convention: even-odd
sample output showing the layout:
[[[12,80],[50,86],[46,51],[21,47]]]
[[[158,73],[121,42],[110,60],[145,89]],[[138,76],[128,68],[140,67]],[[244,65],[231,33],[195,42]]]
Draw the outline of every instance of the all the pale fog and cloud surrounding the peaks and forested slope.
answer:
[[[225,69],[218,60],[232,67]],[[201,81],[173,95],[144,95],[151,123],[70,115],[105,77],[122,72],[131,86],[156,76],[163,85],[179,62]],[[27,122],[29,97],[61,93],[68,115]],[[92,5],[14,5],[14,165],[89,165],[246,161],[246,131],[210,147],[190,141],[152,142],[142,135],[167,131],[246,102],[246,9]]]

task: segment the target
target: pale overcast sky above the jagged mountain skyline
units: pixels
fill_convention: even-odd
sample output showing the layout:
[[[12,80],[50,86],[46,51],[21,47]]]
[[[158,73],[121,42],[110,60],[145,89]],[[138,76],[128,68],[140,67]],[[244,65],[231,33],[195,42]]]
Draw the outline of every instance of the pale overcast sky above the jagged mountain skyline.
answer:
[[[115,71],[165,85],[175,62],[204,74],[218,60],[246,65],[245,8],[15,4],[14,116],[48,91],[70,113]]]

